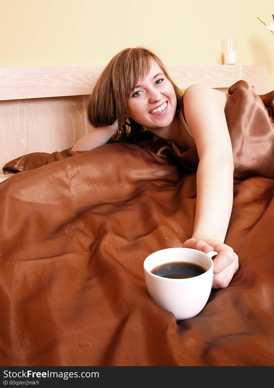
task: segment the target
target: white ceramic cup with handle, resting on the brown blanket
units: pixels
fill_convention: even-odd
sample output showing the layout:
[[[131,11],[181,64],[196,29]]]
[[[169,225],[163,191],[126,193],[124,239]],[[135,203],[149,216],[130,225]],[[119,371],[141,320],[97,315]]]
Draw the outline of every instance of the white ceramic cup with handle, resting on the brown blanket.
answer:
[[[151,253],[144,261],[144,274],[149,296],[176,320],[195,317],[209,298],[213,280],[212,257],[217,252],[204,253],[191,248],[167,248]],[[189,262],[205,269],[201,275],[187,279],[171,279],[152,274],[159,265],[172,262]]]

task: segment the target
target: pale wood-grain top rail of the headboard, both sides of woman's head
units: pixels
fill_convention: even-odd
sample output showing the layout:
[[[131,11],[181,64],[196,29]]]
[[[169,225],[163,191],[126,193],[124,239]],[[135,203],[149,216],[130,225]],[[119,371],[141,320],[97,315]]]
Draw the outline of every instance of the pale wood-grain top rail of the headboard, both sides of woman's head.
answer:
[[[89,95],[104,66],[57,66],[42,68],[0,68],[0,100]],[[167,66],[178,85],[185,89],[193,83],[212,88],[229,87],[244,79],[252,86],[266,89],[266,66],[197,65]],[[263,91],[265,93],[266,90]]]

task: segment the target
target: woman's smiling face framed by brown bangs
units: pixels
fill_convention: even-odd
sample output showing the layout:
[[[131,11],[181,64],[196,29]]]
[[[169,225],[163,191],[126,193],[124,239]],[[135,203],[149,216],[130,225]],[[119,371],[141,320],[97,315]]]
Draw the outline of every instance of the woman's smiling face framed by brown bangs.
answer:
[[[176,113],[176,94],[158,63],[151,61],[148,74],[132,85],[127,116],[158,134],[168,130]]]

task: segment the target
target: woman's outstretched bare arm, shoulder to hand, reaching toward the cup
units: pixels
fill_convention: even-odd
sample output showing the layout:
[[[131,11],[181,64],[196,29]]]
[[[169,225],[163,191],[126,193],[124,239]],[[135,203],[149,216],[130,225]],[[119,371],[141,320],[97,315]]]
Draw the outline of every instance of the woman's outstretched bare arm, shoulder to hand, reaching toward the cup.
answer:
[[[184,94],[185,117],[199,156],[197,200],[192,239],[186,245],[219,252],[214,261],[216,285],[226,287],[238,269],[238,256],[224,244],[233,203],[233,154],[223,92],[195,84]],[[199,107],[199,114],[197,114]],[[196,248],[197,247],[197,248]],[[202,249],[202,250],[205,250]],[[235,260],[236,262],[235,262]]]

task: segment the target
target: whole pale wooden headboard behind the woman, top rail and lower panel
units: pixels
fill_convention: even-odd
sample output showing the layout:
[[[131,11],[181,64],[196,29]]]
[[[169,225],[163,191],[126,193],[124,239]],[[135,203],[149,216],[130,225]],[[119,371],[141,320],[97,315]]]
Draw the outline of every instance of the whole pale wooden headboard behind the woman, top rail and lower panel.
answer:
[[[62,151],[89,132],[92,127],[87,120],[86,103],[103,68],[0,68],[0,167],[31,152]],[[225,91],[243,79],[257,94],[267,92],[266,66],[167,68],[181,89],[203,83]]]

